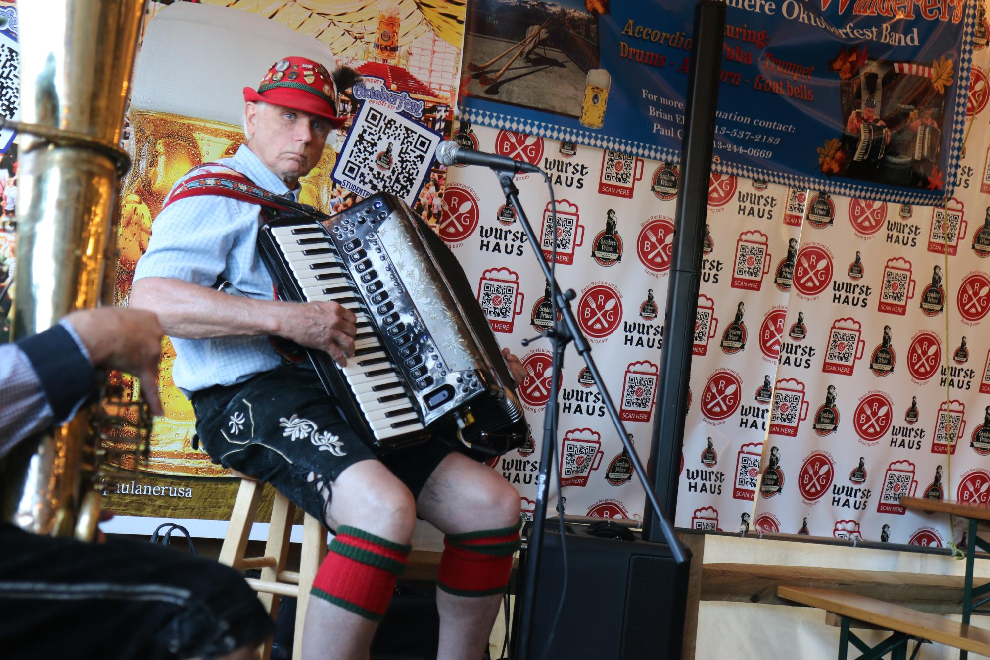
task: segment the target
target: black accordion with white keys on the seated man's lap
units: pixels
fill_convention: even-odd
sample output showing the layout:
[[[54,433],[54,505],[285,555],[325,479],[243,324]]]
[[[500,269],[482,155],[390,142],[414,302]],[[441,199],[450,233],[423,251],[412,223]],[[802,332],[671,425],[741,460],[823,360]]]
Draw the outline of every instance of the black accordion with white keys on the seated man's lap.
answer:
[[[399,198],[333,218],[266,210],[258,233],[278,298],[336,301],[357,317],[341,367],[307,350],[347,424],[381,453],[456,436],[481,456],[528,436],[495,335],[453,254]]]

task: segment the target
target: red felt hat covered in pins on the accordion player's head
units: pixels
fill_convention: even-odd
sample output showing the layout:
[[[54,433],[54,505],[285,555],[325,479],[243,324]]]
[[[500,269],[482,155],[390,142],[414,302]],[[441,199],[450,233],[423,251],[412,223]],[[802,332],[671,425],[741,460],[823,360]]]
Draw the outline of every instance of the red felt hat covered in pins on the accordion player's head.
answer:
[[[338,67],[335,75],[331,75],[323,64],[306,57],[279,59],[261,78],[256,90],[244,88],[245,101],[264,101],[318,115],[339,129],[348,118],[338,114],[338,81],[342,77],[338,72],[346,72],[347,82],[352,84],[352,69],[347,67]]]

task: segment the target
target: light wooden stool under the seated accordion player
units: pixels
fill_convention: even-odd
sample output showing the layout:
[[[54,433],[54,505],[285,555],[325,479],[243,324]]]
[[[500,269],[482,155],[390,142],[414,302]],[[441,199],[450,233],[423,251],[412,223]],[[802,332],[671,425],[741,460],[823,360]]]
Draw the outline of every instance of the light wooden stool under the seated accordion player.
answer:
[[[275,491],[268,539],[264,544],[264,556],[246,557],[247,537],[257,515],[257,506],[261,501],[264,484],[238,472],[235,472],[235,476],[241,477],[241,488],[234,503],[224,544],[220,548],[220,561],[239,571],[261,569],[261,578],[259,580],[248,578],[247,584],[254,591],[259,592],[258,598],[271,614],[272,620],[278,613],[279,597],[291,596],[296,599],[296,629],[293,635],[292,658],[299,660],[303,657],[302,632],[303,622],[306,620],[306,606],[309,604],[310,587],[313,586],[320,562],[327,554],[327,530],[319,520],[307,514],[303,519],[303,547],[299,572],[285,570],[295,505]],[[271,639],[265,641],[264,646],[259,650],[262,660],[268,660],[271,656]]]

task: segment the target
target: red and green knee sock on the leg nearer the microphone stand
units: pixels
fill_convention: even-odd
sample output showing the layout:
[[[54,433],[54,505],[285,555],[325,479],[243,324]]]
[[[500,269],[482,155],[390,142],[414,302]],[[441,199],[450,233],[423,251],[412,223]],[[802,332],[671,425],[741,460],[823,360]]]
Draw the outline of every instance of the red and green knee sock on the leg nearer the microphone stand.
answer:
[[[511,527],[447,534],[437,586],[454,596],[491,596],[509,586],[520,520]]]

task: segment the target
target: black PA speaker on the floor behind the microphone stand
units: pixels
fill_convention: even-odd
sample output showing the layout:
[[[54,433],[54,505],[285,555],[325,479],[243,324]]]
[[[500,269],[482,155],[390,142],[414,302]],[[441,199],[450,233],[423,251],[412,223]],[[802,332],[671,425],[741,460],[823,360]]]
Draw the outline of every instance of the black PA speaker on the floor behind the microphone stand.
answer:
[[[560,529],[547,520],[534,613],[531,660],[663,660],[681,655],[690,562],[677,565],[665,543],[628,528],[568,522],[567,594],[544,655],[563,588]],[[615,533],[610,529],[618,528]],[[592,535],[592,531],[607,537]],[[624,540],[627,539],[627,540]],[[522,615],[526,558],[520,555],[513,643]],[[519,657],[513,648],[513,658]]]

